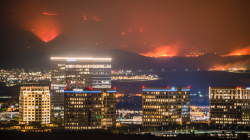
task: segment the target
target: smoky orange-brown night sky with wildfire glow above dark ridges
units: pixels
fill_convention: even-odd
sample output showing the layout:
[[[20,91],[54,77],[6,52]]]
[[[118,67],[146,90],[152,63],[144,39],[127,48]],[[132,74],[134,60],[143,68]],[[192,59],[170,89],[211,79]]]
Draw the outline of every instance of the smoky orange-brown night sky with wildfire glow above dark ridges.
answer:
[[[249,0],[10,0],[0,11],[1,48],[7,51],[184,55],[250,46]]]

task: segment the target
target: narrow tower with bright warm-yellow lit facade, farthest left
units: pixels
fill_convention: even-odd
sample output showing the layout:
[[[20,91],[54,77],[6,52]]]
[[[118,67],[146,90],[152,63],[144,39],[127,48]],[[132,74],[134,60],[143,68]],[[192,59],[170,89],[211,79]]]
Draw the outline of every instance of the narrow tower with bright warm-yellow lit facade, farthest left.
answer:
[[[19,117],[25,122],[50,123],[49,86],[23,86],[19,96]]]

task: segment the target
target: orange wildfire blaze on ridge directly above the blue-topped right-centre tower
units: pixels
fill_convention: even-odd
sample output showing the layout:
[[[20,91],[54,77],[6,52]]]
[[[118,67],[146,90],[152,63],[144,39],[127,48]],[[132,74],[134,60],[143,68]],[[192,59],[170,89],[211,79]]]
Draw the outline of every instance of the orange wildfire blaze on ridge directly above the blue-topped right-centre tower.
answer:
[[[179,49],[177,49],[177,46],[162,46],[141,55],[147,57],[172,57],[176,56],[178,53]]]

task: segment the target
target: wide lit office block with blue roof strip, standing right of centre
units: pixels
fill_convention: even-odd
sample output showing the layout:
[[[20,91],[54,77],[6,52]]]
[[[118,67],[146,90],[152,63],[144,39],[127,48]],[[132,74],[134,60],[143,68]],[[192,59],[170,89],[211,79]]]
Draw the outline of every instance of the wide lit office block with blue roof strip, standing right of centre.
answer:
[[[143,87],[142,126],[190,123],[189,87]]]

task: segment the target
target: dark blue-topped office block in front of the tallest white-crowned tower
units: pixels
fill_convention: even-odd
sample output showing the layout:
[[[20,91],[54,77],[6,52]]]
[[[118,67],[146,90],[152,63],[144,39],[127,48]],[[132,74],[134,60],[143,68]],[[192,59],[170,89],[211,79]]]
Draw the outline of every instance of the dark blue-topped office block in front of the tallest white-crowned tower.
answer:
[[[64,93],[66,130],[116,126],[115,89],[73,89],[65,90]]]

